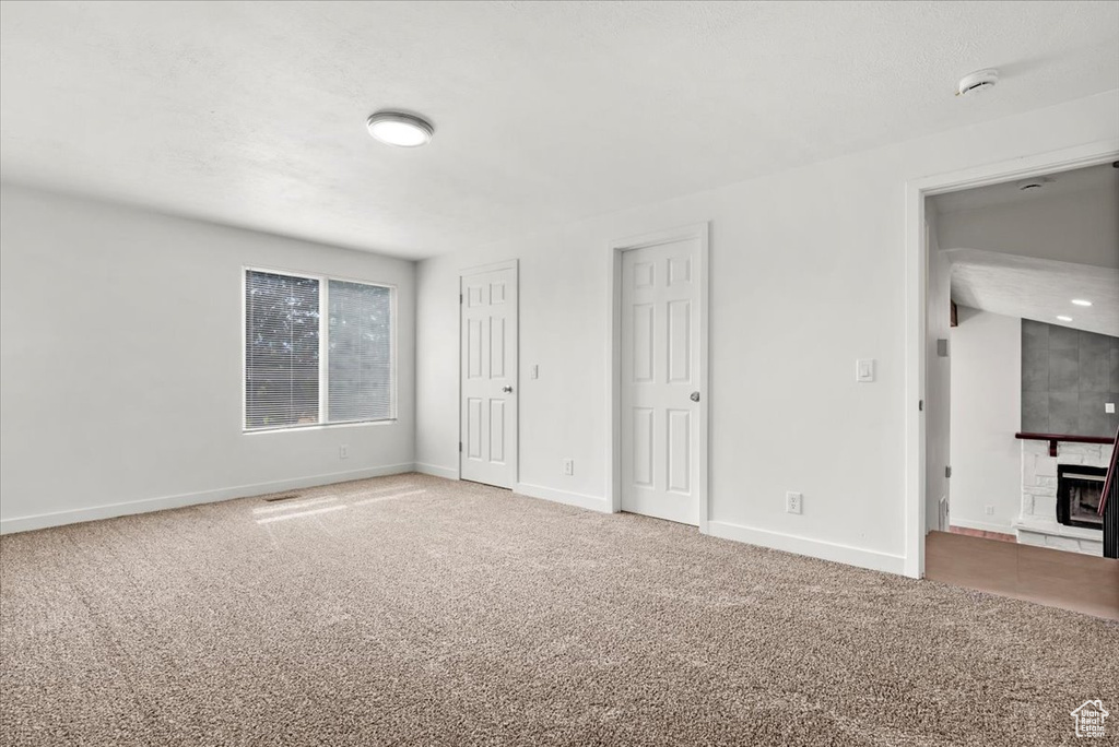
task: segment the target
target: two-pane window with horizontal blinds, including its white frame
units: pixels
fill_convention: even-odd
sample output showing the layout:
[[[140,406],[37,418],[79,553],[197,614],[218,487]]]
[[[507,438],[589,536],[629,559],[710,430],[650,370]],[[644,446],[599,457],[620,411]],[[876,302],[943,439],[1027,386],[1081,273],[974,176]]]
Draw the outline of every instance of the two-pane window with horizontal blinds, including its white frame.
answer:
[[[395,417],[394,291],[245,271],[245,431]]]

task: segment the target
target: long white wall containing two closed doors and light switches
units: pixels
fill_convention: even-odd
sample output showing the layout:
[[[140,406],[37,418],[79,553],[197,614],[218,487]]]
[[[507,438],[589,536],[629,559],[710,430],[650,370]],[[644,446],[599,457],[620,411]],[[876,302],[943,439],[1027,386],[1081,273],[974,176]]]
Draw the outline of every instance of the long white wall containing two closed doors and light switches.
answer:
[[[458,465],[459,270],[517,257],[520,480],[604,505],[606,247],[711,220],[712,531],[901,573],[905,181],[1117,132],[1110,92],[425,261],[416,461]],[[861,357],[878,360],[877,382],[855,382]],[[803,492],[802,516],[784,512],[786,490]]]

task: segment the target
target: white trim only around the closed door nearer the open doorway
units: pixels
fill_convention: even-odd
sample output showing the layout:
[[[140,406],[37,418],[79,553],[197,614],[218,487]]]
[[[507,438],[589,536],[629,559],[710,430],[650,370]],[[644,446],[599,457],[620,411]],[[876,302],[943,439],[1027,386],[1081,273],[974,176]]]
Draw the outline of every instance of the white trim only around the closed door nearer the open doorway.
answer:
[[[618,513],[622,510],[622,474],[621,474],[621,303],[622,303],[622,253],[643,249],[670,242],[699,239],[699,380],[696,382],[699,397],[699,453],[695,464],[696,493],[699,504],[699,531],[708,533],[711,520],[711,358],[708,353],[708,311],[709,311],[709,275],[711,266],[711,221],[689,224],[676,228],[667,228],[639,236],[630,236],[610,242],[606,277],[610,291],[609,330],[606,333],[606,360],[609,361],[606,381],[606,420],[610,423],[610,447],[606,454],[610,482],[606,485],[610,510]]]

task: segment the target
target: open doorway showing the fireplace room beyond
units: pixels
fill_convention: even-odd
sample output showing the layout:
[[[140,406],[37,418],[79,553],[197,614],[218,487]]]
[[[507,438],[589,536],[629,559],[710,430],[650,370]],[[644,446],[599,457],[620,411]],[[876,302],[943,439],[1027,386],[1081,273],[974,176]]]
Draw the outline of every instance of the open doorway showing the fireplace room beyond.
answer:
[[[1094,150],[919,195],[920,510],[928,577],[1119,616],[1102,516],[1066,516],[1100,507],[1119,429],[1119,166]]]

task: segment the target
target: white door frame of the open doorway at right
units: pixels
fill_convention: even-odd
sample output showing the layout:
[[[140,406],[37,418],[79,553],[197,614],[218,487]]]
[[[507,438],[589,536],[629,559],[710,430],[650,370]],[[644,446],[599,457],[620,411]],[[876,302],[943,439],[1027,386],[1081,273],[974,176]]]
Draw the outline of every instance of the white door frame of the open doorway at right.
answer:
[[[924,236],[927,197],[961,189],[1028,179],[1119,159],[1119,139],[1101,140],[1047,153],[986,163],[905,182],[905,560],[903,573],[924,577],[925,538],[925,286],[929,248]]]

